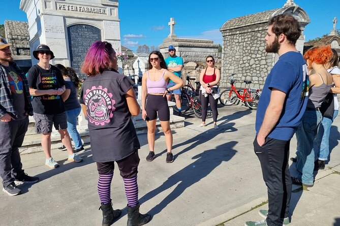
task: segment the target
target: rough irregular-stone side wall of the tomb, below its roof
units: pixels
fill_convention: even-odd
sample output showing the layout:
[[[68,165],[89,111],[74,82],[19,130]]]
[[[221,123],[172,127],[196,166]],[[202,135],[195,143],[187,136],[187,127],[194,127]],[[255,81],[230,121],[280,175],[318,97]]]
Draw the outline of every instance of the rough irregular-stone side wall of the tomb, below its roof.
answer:
[[[229,75],[232,73],[236,73],[234,79],[251,80],[252,87],[263,87],[277,57],[265,52],[266,31],[266,24],[257,24],[248,26],[248,29],[232,29],[224,35],[221,87],[230,86]]]

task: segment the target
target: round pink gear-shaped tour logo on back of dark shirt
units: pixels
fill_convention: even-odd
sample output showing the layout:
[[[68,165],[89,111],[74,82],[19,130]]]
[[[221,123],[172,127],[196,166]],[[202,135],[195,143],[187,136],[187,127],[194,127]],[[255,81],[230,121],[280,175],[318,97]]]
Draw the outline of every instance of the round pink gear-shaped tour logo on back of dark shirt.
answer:
[[[90,123],[104,126],[110,122],[116,109],[113,106],[116,101],[112,99],[112,94],[108,93],[106,88],[92,86],[90,90],[86,90],[84,100]]]

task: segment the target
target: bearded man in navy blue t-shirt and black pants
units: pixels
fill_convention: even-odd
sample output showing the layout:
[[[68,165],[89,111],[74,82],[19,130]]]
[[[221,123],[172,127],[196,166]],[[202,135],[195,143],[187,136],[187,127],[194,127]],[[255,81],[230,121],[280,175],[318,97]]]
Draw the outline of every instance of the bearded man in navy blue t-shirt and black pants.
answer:
[[[268,190],[267,210],[260,210],[263,221],[245,225],[283,225],[289,223],[292,192],[289,173],[289,144],[298,128],[307,103],[307,66],[295,43],[301,30],[291,15],[270,19],[266,52],[277,53],[279,60],[271,69],[261,93],[256,114],[255,154],[260,160]]]

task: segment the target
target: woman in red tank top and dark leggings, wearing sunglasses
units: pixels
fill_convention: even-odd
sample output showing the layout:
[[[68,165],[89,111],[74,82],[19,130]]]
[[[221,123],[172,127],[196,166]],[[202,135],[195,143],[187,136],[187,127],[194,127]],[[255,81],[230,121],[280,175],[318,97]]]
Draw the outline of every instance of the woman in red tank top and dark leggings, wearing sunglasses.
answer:
[[[219,129],[216,124],[217,116],[219,115],[217,111],[217,102],[219,99],[218,93],[212,93],[211,88],[218,88],[220,82],[221,74],[218,68],[215,68],[215,59],[212,56],[206,57],[206,62],[208,67],[201,71],[200,74],[200,99],[202,103],[202,123],[198,127],[205,126],[205,119],[207,115],[208,103],[210,103],[212,118],[213,118],[213,128]]]

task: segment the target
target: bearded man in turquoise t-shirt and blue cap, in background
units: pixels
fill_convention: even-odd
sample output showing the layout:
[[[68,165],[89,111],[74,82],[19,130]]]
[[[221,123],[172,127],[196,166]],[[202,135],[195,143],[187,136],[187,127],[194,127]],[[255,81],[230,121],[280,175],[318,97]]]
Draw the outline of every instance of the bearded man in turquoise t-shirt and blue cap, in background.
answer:
[[[181,78],[181,70],[183,69],[183,58],[176,56],[176,49],[174,46],[169,46],[169,57],[165,59],[165,63],[167,64],[168,70],[172,73],[174,73],[176,76]],[[168,87],[175,86],[176,83],[174,83],[172,80],[169,81]],[[180,107],[180,89],[171,90],[171,92],[167,93],[167,99],[170,101],[172,93],[175,94],[176,99],[176,106],[178,108],[178,115],[181,116],[181,107]]]

